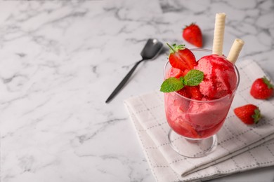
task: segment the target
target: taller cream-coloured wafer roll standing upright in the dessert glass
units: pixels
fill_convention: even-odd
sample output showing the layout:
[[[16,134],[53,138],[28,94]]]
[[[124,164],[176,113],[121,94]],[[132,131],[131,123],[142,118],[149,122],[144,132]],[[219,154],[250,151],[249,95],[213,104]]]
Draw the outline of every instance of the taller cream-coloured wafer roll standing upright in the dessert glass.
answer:
[[[226,13],[216,13],[212,54],[223,55],[223,35],[225,31]]]

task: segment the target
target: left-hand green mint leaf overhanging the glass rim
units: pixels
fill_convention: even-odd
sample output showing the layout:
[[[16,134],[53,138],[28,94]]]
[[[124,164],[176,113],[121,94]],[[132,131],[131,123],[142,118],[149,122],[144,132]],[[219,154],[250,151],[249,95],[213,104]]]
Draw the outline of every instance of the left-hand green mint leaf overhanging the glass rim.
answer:
[[[164,82],[161,85],[161,92],[174,92],[181,90],[183,88],[183,83],[178,78],[168,78],[167,80],[164,80]]]

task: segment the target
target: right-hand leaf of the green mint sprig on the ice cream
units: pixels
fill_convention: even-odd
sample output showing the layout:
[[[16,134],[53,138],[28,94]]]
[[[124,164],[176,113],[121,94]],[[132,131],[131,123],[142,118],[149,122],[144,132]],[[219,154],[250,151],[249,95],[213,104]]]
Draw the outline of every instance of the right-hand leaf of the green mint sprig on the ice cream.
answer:
[[[183,78],[183,84],[188,86],[196,86],[204,79],[204,73],[197,69],[191,69]]]

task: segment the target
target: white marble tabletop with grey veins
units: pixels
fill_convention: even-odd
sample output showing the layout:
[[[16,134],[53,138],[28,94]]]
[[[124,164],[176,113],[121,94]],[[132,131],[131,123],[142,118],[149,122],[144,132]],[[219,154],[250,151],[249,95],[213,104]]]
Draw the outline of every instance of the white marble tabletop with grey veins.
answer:
[[[224,53],[242,38],[240,60],[256,60],[274,79],[273,7],[272,0],[0,1],[1,182],[155,181],[123,100],[159,89],[166,55],[141,64],[112,102],[105,99],[150,37],[185,43],[181,29],[196,22],[211,48],[218,12],[227,14]],[[268,167],[212,181],[273,179]]]

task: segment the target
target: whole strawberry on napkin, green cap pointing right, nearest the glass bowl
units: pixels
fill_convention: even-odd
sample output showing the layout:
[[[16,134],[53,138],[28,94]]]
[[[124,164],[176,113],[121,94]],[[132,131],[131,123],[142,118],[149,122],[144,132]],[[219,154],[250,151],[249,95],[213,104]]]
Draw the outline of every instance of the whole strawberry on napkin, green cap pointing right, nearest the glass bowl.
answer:
[[[253,104],[247,104],[234,109],[235,115],[247,125],[257,124],[261,119],[261,111]]]

